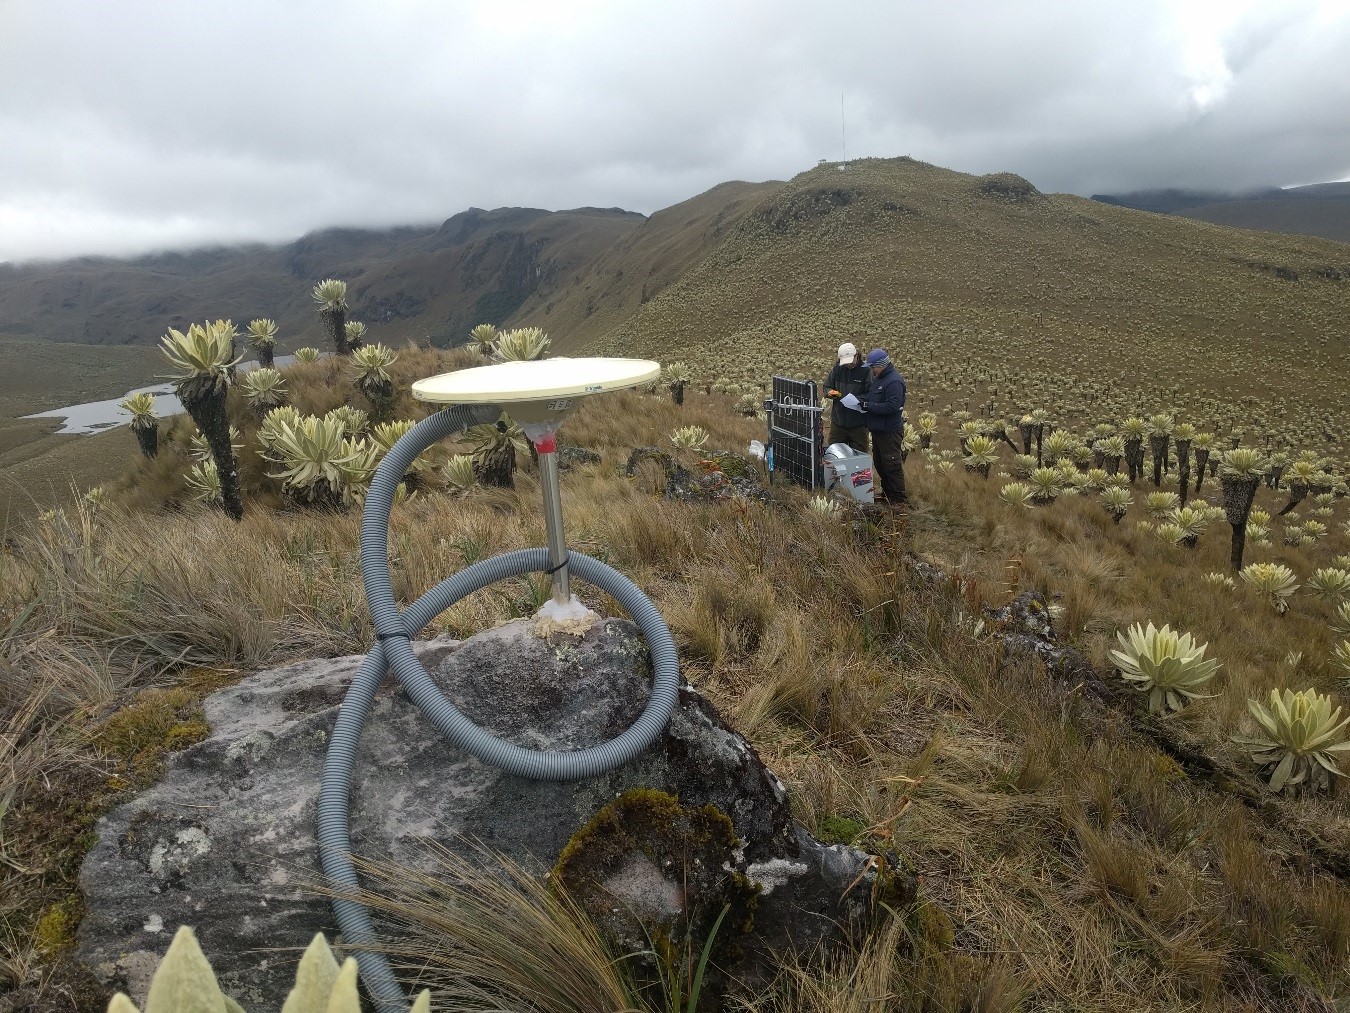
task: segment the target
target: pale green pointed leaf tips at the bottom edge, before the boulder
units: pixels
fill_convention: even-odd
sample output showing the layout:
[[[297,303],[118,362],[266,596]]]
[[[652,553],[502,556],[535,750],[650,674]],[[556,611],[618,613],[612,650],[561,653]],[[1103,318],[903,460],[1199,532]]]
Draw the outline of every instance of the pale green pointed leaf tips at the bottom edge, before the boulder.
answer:
[[[123,993],[112,997],[108,1013],[140,1013]],[[220,991],[211,962],[184,925],[169,944],[169,952],[150,979],[144,1013],[244,1013],[243,1006]],[[342,967],[320,932],[296,967],[296,986],[281,1013],[360,1013],[356,991],[356,962],[347,958]],[[431,1013],[431,993],[423,991],[412,1013]]]

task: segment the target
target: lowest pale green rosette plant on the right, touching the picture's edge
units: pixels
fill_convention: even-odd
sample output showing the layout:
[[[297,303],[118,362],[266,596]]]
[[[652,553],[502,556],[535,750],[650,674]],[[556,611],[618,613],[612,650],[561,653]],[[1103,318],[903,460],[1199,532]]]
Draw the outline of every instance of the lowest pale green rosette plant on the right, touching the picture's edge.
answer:
[[[1254,736],[1234,736],[1234,742],[1251,747],[1256,763],[1273,764],[1272,791],[1301,783],[1324,787],[1341,774],[1336,759],[1350,751],[1350,742],[1345,740],[1350,719],[1338,721],[1341,708],[1331,709],[1331,697],[1315,689],[1300,693],[1273,689],[1269,708],[1249,700],[1247,709],[1260,731]]]

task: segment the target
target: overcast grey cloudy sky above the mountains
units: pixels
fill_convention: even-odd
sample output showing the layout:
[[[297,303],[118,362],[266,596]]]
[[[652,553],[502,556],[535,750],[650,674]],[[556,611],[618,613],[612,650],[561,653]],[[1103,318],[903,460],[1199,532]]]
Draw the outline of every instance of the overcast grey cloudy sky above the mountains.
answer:
[[[1350,0],[0,0],[0,261],[909,154],[1044,190],[1350,177]]]

